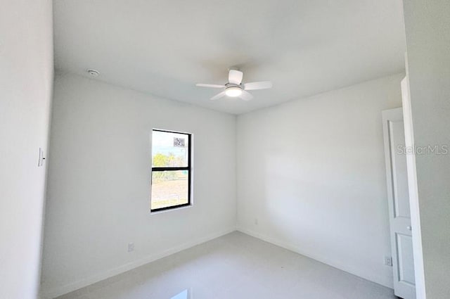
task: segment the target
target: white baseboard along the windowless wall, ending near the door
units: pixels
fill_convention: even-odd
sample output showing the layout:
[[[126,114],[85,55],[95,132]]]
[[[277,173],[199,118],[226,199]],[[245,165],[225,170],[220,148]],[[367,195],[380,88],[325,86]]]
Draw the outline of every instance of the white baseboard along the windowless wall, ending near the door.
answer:
[[[392,281],[387,279],[385,276],[368,275],[366,273],[361,273],[361,271],[358,271],[358,269],[354,269],[353,267],[349,267],[348,265],[342,265],[342,264],[340,264],[338,262],[335,262],[333,260],[329,260],[328,258],[320,256],[320,255],[314,255],[314,254],[311,254],[311,253],[306,253],[306,252],[304,252],[304,250],[302,250],[302,248],[298,248],[297,246],[293,246],[293,245],[290,245],[288,243],[279,241],[276,238],[271,238],[269,236],[264,236],[263,234],[259,234],[259,233],[255,232],[255,231],[250,230],[250,229],[245,229],[243,227],[236,227],[236,230],[242,232],[243,234],[248,234],[249,236],[253,236],[255,238],[259,238],[262,241],[266,241],[266,242],[272,243],[272,244],[274,244],[276,246],[283,247],[285,249],[288,249],[288,250],[293,251],[295,253],[298,253],[300,255],[304,255],[304,256],[309,257],[309,258],[311,258],[313,260],[316,260],[318,262],[322,262],[323,264],[326,264],[328,266],[335,267],[335,268],[340,269],[342,271],[345,271],[347,273],[359,276],[362,279],[366,279],[368,281],[375,282],[375,284],[380,284],[380,285],[385,286],[387,288],[393,288]]]

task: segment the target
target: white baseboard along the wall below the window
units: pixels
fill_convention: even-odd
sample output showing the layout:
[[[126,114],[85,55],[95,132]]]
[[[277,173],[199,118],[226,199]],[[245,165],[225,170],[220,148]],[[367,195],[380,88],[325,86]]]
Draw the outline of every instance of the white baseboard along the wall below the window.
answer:
[[[41,299],[53,299],[56,298],[60,295],[64,295],[66,293],[70,293],[72,291],[76,291],[79,288],[84,288],[85,286],[89,286],[91,284],[95,284],[98,281],[102,281],[104,279],[108,279],[112,276],[121,274],[123,272],[127,272],[131,269],[140,267],[142,265],[146,265],[149,262],[153,262],[155,260],[159,260],[162,257],[167,257],[168,255],[172,255],[174,253],[178,253],[181,250],[185,250],[188,248],[191,248],[193,246],[197,246],[201,243],[205,243],[207,241],[210,241],[214,238],[219,238],[219,236],[224,236],[226,234],[229,234],[233,231],[236,231],[235,227],[232,227],[230,229],[226,229],[224,231],[218,231],[214,234],[210,234],[208,236],[204,236],[202,238],[197,238],[193,241],[189,241],[187,243],[181,244],[180,246],[176,246],[173,248],[169,248],[167,250],[162,251],[161,253],[157,253],[155,255],[148,255],[147,257],[143,257],[139,260],[135,260],[134,262],[129,262],[125,265],[122,265],[120,267],[116,267],[114,269],[110,269],[108,271],[102,272],[102,273],[98,273],[95,274],[93,276],[89,276],[86,277],[85,279],[81,279],[79,281],[75,281],[72,284],[66,284],[65,286],[60,286],[58,288],[53,288],[52,290],[49,291],[43,291],[41,293],[40,298]]]

